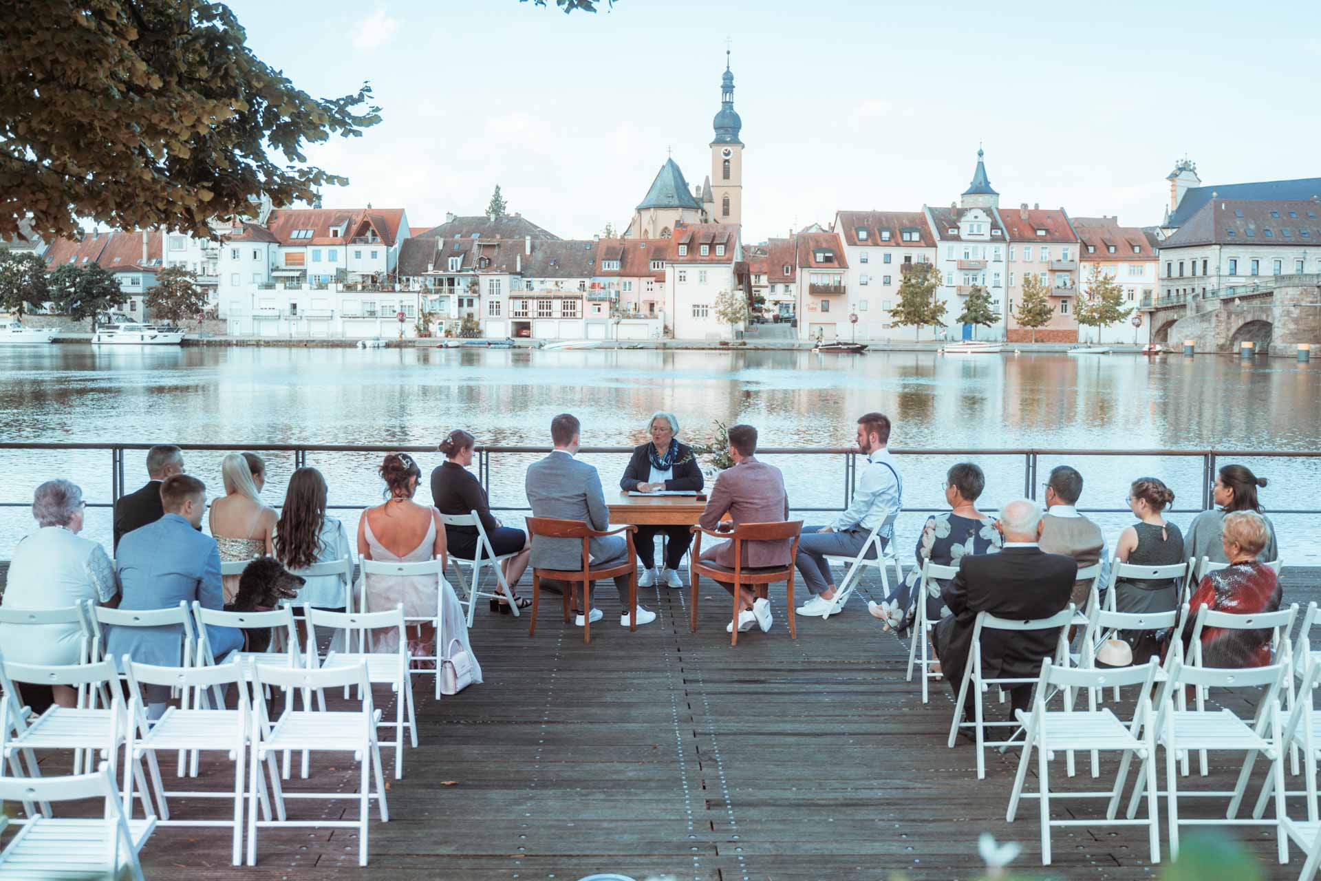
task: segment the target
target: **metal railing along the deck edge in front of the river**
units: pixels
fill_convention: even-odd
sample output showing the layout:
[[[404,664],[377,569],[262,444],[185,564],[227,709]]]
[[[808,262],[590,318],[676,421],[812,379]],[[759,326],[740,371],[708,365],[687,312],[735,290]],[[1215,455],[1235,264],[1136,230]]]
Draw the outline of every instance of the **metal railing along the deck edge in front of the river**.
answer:
[[[58,450],[58,452],[86,452],[102,450],[110,454],[111,469],[111,501],[87,502],[87,507],[112,507],[125,493],[124,461],[128,452],[145,452],[152,444],[148,442],[34,442],[34,441],[0,441],[0,450]],[[308,453],[435,453],[433,445],[363,445],[363,444],[178,444],[180,449],[199,452],[254,452],[254,453],[293,453],[293,466],[303,468],[308,464]],[[502,454],[536,454],[550,453],[550,446],[476,446],[474,465],[477,478],[483,487],[490,487],[491,458]],[[633,453],[633,446],[584,446],[580,453]],[[795,511],[838,511],[848,507],[853,497],[853,486],[857,479],[859,453],[849,446],[771,446],[760,448],[758,456],[838,456],[843,464],[841,505],[836,507],[801,507]],[[980,457],[980,456],[1011,456],[1022,460],[1022,494],[1036,499],[1041,489],[1041,476],[1038,465],[1042,457],[1166,457],[1166,458],[1201,458],[1201,507],[1197,509],[1169,509],[1170,514],[1192,514],[1205,511],[1211,507],[1211,487],[1215,482],[1217,462],[1222,458],[1309,458],[1321,460],[1321,450],[1248,450],[1248,449],[1050,449],[1050,448],[991,448],[991,449],[915,449],[892,448],[890,453],[897,457],[906,456],[947,456],[947,457]],[[26,507],[32,499],[11,501],[0,499],[0,507]],[[330,505],[337,510],[362,510],[369,505]],[[527,506],[491,505],[493,511],[528,511]],[[904,507],[905,512],[929,514],[945,509],[931,507]],[[1079,507],[1079,511],[1089,514],[1119,514],[1128,509],[1119,507]],[[1271,514],[1321,514],[1321,509],[1272,509]]]

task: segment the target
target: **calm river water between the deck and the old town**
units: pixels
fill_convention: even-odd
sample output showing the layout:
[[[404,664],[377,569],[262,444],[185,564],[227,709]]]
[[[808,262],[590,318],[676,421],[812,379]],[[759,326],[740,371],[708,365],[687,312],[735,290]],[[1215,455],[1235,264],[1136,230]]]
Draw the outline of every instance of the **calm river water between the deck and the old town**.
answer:
[[[569,411],[583,420],[584,445],[606,446],[642,442],[647,416],[668,409],[684,440],[707,440],[720,419],[757,425],[769,448],[851,444],[856,417],[880,409],[893,420],[890,444],[900,448],[1313,450],[1321,446],[1318,371],[1283,359],[1240,365],[1219,357],[0,346],[0,424],[11,441],[411,445],[466,428],[482,444],[542,445],[551,417]],[[0,502],[30,502],[32,490],[52,477],[74,479],[90,502],[110,498],[108,452],[0,456]],[[189,473],[213,491],[221,487],[221,456],[186,456]],[[609,493],[626,457],[584,456],[601,469]],[[428,472],[440,462],[439,454],[419,458]],[[534,458],[493,458],[493,505],[526,505],[523,470]],[[785,472],[795,507],[841,506],[843,457],[765,458]],[[959,460],[987,472],[983,509],[1024,493],[1021,456],[906,456],[905,506],[943,506],[945,469]],[[1123,509],[1128,481],[1147,474],[1174,489],[1176,523],[1186,526],[1201,505],[1201,458],[1052,456],[1041,460],[1042,478],[1063,461],[1085,476],[1085,509]],[[1321,563],[1317,516],[1279,512],[1321,507],[1321,460],[1235,461],[1269,478],[1262,501],[1273,512],[1285,561]],[[378,462],[365,454],[309,456],[326,476],[332,505],[379,498]],[[268,464],[264,495],[277,505],[292,454],[272,453]],[[145,481],[137,453],[125,474],[129,489]],[[341,515],[355,527],[354,512]],[[506,516],[518,519],[513,511]],[[922,519],[901,518],[904,543],[915,539]],[[1114,538],[1132,518],[1096,519]],[[0,557],[30,527],[25,509],[0,509]],[[108,546],[107,510],[89,510],[86,534]]]

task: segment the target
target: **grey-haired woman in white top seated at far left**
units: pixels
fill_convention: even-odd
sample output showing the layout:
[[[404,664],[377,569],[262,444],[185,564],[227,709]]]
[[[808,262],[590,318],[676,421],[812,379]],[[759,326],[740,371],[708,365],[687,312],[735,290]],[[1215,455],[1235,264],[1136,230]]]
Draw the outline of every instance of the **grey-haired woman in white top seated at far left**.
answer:
[[[37,487],[32,515],[37,531],[18,542],[9,580],[5,609],[63,609],[83,600],[110,602],[119,588],[115,568],[96,542],[79,538],[87,503],[82,490],[69,481],[46,481]],[[5,656],[28,664],[63,666],[78,663],[78,625],[0,625],[0,646]],[[54,687],[61,707],[73,707],[73,688]]]

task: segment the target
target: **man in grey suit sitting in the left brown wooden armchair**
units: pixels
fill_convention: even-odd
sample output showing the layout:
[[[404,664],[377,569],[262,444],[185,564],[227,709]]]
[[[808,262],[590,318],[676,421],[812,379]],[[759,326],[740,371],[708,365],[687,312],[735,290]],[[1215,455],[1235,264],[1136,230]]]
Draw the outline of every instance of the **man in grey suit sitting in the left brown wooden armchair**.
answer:
[[[532,506],[532,516],[547,516],[560,520],[581,520],[590,528],[604,531],[610,526],[610,511],[605,506],[601,490],[601,476],[587,462],[577,458],[579,433],[581,427],[572,413],[560,413],[551,420],[551,440],[555,449],[546,458],[527,466],[524,489],[527,502]],[[629,563],[629,543],[622,535],[593,538],[588,544],[590,565],[608,569]],[[543,569],[576,571],[583,568],[583,542],[580,539],[555,539],[546,535],[532,536],[532,565]],[[577,626],[600,621],[604,613],[590,602],[590,597],[579,598],[573,585],[557,585],[571,590],[573,605],[580,602],[587,608],[576,609]],[[620,592],[620,626],[629,626],[629,576],[614,576],[614,589]],[[638,605],[639,625],[655,621],[657,613]]]

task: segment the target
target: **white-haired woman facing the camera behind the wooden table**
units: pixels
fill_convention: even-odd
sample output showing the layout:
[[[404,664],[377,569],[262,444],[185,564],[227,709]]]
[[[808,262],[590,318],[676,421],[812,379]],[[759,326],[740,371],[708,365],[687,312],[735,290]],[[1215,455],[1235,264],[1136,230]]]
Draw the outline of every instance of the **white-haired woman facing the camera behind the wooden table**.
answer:
[[[674,413],[655,412],[647,421],[651,440],[633,450],[629,466],[624,469],[620,489],[625,493],[657,493],[660,490],[701,491],[701,469],[692,448],[680,444],[678,437],[679,420]],[[664,572],[655,571],[655,538],[664,534]],[[663,582],[671,588],[682,588],[679,564],[688,549],[692,534],[687,526],[639,526],[634,536],[638,559],[642,561],[639,588],[650,588]]]

